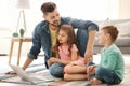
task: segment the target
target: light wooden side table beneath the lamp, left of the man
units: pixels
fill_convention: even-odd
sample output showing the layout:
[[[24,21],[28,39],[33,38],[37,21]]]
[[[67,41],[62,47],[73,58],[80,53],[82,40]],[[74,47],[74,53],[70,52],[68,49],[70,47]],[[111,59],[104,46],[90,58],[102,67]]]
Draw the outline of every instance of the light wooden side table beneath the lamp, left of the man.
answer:
[[[11,48],[10,48],[10,55],[9,55],[9,63],[11,63],[11,58],[12,58],[12,52],[13,52],[13,45],[15,42],[18,42],[18,55],[17,55],[17,66],[20,64],[20,59],[21,59],[21,52],[22,52],[22,44],[23,42],[31,42],[31,38],[11,38]]]

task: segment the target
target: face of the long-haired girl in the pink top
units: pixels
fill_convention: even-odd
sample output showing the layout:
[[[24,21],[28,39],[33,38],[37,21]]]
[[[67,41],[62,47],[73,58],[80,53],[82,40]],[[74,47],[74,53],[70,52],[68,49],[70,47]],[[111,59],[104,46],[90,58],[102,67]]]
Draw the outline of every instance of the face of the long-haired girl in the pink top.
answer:
[[[67,44],[68,35],[64,30],[60,30],[57,39],[60,43]]]

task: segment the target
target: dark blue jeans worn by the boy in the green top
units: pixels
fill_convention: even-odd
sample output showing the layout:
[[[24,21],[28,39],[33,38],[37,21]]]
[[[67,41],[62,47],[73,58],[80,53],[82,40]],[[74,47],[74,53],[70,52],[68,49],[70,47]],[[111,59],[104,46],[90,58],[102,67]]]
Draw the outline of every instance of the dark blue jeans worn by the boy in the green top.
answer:
[[[94,63],[89,62],[87,67],[92,66],[92,64]],[[103,67],[95,68],[95,74],[90,75],[90,80],[93,77],[96,77],[101,80],[103,83],[107,83],[107,84],[119,84],[121,82],[121,80],[117,76],[116,73]]]

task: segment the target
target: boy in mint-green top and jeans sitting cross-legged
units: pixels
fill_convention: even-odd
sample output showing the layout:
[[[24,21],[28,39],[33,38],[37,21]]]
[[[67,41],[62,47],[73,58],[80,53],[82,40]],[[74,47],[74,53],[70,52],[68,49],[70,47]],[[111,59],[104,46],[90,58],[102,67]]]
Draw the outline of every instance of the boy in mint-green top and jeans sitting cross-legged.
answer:
[[[125,64],[122,54],[115,45],[118,30],[115,26],[106,26],[101,29],[99,43],[104,45],[104,48],[101,51],[100,64],[87,68],[91,85],[119,84],[122,81]]]

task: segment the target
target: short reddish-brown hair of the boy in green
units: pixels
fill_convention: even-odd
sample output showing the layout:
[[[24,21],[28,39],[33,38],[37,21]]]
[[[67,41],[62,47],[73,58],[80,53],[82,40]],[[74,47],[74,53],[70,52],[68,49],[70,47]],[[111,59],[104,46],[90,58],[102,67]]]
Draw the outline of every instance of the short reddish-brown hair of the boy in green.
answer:
[[[112,37],[110,40],[113,42],[115,42],[115,40],[117,39],[118,33],[119,33],[117,27],[115,27],[115,26],[106,26],[106,27],[103,27],[102,30],[104,30],[106,33],[109,33],[110,37]]]

